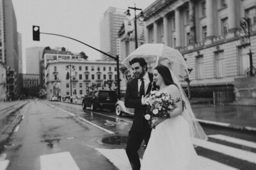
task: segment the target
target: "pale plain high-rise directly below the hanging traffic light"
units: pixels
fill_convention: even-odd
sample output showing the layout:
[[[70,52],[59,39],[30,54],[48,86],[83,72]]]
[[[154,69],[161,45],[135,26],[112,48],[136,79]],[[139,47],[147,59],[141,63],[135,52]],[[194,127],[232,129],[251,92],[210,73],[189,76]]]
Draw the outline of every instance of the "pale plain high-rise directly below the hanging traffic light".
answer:
[[[39,74],[40,73],[40,57],[42,57],[44,47],[33,46],[26,48],[26,74]]]

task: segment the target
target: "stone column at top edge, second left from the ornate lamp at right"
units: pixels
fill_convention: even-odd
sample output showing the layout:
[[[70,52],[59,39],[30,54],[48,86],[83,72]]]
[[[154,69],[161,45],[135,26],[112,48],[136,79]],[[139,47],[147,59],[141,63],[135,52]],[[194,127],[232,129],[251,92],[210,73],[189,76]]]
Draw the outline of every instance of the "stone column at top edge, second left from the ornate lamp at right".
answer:
[[[207,17],[207,37],[214,36],[214,33],[213,33],[213,1],[206,0],[205,6],[206,6],[206,17]]]

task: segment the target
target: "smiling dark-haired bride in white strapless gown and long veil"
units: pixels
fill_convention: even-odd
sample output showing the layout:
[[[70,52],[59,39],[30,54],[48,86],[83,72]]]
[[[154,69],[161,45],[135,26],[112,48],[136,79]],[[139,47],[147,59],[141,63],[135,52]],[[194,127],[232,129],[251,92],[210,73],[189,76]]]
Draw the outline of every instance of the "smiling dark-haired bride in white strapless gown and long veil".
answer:
[[[141,169],[196,169],[196,152],[191,138],[207,139],[207,136],[196,122],[188,99],[170,69],[159,65],[153,74],[159,91],[172,98],[179,97],[186,104],[183,106],[182,100],[175,103],[173,111],[169,111],[170,118],[152,118],[152,127],[156,125],[156,128],[152,129]]]

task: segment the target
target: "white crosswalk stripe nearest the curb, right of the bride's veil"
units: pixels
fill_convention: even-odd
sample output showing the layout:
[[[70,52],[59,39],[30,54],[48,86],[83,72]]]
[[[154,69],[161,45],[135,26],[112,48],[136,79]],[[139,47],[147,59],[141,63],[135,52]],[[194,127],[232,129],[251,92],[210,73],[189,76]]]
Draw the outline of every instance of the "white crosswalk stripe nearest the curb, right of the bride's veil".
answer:
[[[212,134],[212,135],[208,135],[208,137],[214,138],[214,139],[219,139],[221,141],[227,141],[227,142],[230,142],[230,143],[236,143],[238,145],[248,146],[250,148],[256,148],[256,143],[254,143],[252,141],[246,141],[246,140],[243,140],[243,139],[238,139],[238,138],[234,138],[234,137],[230,137],[230,136],[225,136],[223,134]]]

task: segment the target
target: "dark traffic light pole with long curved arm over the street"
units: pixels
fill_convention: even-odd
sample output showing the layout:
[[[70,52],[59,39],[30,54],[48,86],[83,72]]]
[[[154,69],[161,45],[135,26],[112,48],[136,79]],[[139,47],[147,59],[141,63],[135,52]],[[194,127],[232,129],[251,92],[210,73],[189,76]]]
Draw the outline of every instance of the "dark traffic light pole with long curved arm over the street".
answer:
[[[38,27],[39,28],[39,27]],[[77,40],[77,39],[74,39],[74,38],[70,38],[70,37],[68,37],[68,36],[63,36],[63,35],[60,35],[60,34],[52,34],[52,33],[47,33],[47,32],[39,32],[39,34],[48,34],[48,35],[53,35],[53,36],[62,36],[62,37],[65,37],[65,38],[69,38],[69,39],[73,39],[74,41],[77,41],[77,42],[79,42],[79,43],[82,43],[83,45],[86,45],[86,46],[89,46],[90,48],[93,48],[94,50],[97,50],[98,52],[100,52],[100,53],[103,53],[104,55],[107,55],[108,57],[110,57],[111,59],[114,59],[114,60],[116,60],[116,76],[117,76],[117,96],[118,96],[118,98],[120,99],[120,97],[121,97],[121,94],[120,94],[120,75],[119,75],[119,57],[118,57],[118,55],[116,55],[116,57],[113,57],[112,55],[109,55],[108,53],[106,53],[106,52],[102,52],[101,50],[99,50],[99,49],[97,49],[97,48],[94,48],[93,46],[90,46],[90,45],[88,45],[88,44],[86,44],[86,43],[83,43],[82,41],[79,41],[79,40]],[[70,72],[70,74],[71,74],[71,72]],[[70,89],[71,89],[71,78],[70,78]],[[72,93],[72,91],[71,91],[71,93]],[[72,96],[72,94],[71,94],[71,96]]]

